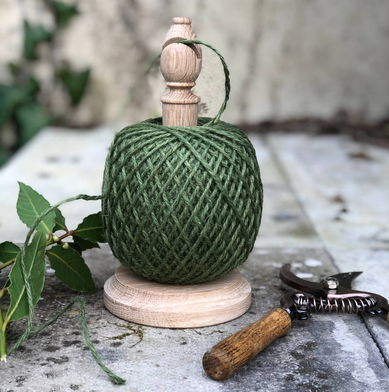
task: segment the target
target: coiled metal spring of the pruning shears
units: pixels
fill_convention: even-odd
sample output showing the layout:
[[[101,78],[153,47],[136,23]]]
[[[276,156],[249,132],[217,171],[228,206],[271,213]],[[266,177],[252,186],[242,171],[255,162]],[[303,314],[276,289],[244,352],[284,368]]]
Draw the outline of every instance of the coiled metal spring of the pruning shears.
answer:
[[[373,297],[351,297],[332,298],[329,302],[326,298],[297,296],[297,309],[300,312],[307,312],[310,317],[312,311],[334,312],[334,313],[362,313],[369,312],[375,306],[376,300]]]

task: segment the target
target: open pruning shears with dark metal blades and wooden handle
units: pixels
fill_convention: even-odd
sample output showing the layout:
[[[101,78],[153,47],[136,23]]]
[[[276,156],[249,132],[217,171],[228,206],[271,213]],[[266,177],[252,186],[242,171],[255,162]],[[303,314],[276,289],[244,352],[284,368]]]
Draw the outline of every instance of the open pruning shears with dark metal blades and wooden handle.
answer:
[[[389,325],[388,300],[381,295],[353,290],[352,281],[362,272],[339,273],[310,282],[290,270],[290,264],[280,269],[284,284],[298,290],[285,293],[281,308],[269,310],[260,320],[223,339],[203,357],[205,373],[215,380],[225,380],[272,341],[286,335],[292,320],[306,320],[313,312],[365,313],[379,316]]]

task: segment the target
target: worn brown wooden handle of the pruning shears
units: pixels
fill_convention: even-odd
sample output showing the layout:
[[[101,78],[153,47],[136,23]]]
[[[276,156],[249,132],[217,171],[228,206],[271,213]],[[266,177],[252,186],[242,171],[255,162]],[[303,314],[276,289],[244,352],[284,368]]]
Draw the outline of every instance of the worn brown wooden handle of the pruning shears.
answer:
[[[205,373],[225,380],[246,365],[272,341],[286,335],[292,322],[281,308],[269,310],[262,319],[215,344],[203,356]]]

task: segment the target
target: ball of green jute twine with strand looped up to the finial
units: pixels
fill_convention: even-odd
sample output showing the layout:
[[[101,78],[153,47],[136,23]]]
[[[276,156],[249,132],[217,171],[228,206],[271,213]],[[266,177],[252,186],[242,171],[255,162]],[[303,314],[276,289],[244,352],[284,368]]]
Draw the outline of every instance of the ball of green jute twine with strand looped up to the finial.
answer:
[[[199,43],[198,40],[180,41]],[[246,134],[217,116],[198,126],[149,119],[122,129],[106,158],[102,216],[119,261],[169,284],[213,280],[243,264],[254,246],[263,189]]]

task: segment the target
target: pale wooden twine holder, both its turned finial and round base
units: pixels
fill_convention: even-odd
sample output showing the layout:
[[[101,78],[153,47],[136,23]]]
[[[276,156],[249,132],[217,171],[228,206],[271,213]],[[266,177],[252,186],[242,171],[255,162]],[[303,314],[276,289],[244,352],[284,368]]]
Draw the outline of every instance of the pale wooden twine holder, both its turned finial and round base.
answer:
[[[201,70],[199,45],[190,18],[174,18],[161,53],[161,72],[170,91],[161,98],[163,125],[196,126],[200,98],[192,93]],[[212,282],[168,285],[139,277],[124,266],[104,285],[104,304],[115,316],[138,324],[195,328],[220,324],[244,314],[251,286],[235,269]]]

